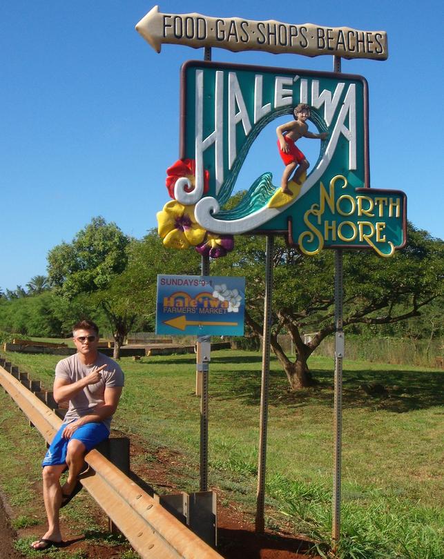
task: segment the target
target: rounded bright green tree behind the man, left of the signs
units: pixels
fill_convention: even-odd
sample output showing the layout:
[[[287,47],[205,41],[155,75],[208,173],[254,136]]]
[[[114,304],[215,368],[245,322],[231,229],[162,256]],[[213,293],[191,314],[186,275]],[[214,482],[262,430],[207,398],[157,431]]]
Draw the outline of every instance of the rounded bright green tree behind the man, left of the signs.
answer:
[[[98,297],[97,293],[106,292],[112,280],[126,268],[129,242],[129,237],[115,223],[108,224],[103,217],[94,217],[75,235],[73,242],[61,243],[48,253],[48,277],[58,293],[67,300],[90,295],[103,308],[113,331],[116,359],[135,314],[130,310],[122,317],[116,300]]]

